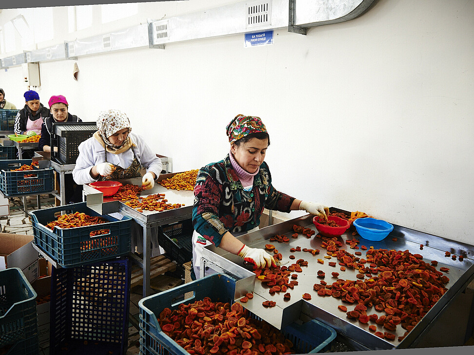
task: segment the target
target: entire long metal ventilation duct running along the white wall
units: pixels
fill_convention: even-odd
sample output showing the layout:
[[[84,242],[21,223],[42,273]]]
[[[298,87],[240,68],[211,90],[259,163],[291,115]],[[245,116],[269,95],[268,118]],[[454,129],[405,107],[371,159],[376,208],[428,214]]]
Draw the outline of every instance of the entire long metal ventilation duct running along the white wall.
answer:
[[[150,47],[217,36],[288,28],[306,34],[307,28],[348,21],[367,11],[375,0],[253,0],[149,21],[121,31],[68,41],[1,59],[1,67],[54,59],[76,59],[123,49]],[[65,48],[62,48],[62,47]],[[64,52],[64,54],[63,54]]]

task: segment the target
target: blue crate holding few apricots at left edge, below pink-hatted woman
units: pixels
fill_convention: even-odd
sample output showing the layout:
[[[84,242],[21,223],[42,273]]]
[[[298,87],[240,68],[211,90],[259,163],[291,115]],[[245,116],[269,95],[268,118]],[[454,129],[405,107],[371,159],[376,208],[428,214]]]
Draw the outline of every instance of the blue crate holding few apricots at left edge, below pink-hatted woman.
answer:
[[[0,160],[0,191],[5,197],[51,192],[54,190],[52,168],[10,171],[22,165],[31,165],[31,159]],[[25,177],[33,174],[35,176]]]

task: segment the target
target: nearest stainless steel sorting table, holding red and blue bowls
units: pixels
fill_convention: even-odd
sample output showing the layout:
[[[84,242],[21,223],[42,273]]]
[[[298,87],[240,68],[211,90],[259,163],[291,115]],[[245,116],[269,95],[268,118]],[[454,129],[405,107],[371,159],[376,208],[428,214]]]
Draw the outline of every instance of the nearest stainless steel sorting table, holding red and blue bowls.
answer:
[[[334,209],[331,209],[332,211]],[[341,210],[338,210],[341,211]],[[257,316],[267,320],[269,323],[275,325],[277,328],[282,327],[288,323],[299,318],[301,321],[307,321],[310,319],[318,319],[325,324],[333,327],[336,331],[347,338],[355,350],[380,350],[380,349],[394,349],[394,348],[410,348],[416,347],[416,344],[422,339],[423,335],[427,334],[428,330],[434,324],[440,314],[447,308],[454,297],[462,292],[469,282],[474,278],[474,246],[451,241],[442,237],[430,235],[427,233],[419,232],[413,229],[405,228],[402,226],[394,225],[394,231],[383,241],[371,242],[364,240],[357,236],[356,239],[360,240],[360,245],[365,245],[368,248],[374,246],[375,249],[396,249],[396,250],[409,250],[412,254],[420,254],[423,256],[425,262],[431,262],[436,260],[439,267],[448,267],[449,273],[446,274],[450,281],[445,285],[448,290],[446,293],[434,304],[433,308],[416,324],[415,328],[402,340],[398,341],[397,337],[402,336],[405,330],[400,325],[397,326],[395,333],[395,340],[390,341],[387,339],[381,339],[374,335],[374,333],[368,330],[368,326],[375,324],[369,322],[369,324],[362,324],[357,319],[346,318],[345,312],[338,310],[337,306],[342,303],[341,299],[333,297],[320,297],[313,290],[313,285],[319,283],[317,278],[317,271],[322,270],[326,276],[324,280],[330,284],[336,281],[336,278],[331,277],[333,271],[338,272],[339,278],[346,280],[358,280],[355,278],[355,270],[347,268],[346,271],[340,271],[340,266],[337,264],[336,258],[325,259],[326,249],[320,246],[322,240],[313,236],[308,239],[301,234],[297,239],[291,237],[293,234],[293,224],[309,227],[316,231],[316,227],[312,223],[313,216],[306,215],[290,221],[286,221],[280,224],[271,225],[252,233],[244,234],[238,239],[243,243],[256,248],[264,248],[264,245],[271,243],[275,245],[276,249],[283,255],[282,265],[288,262],[288,265],[295,262],[298,259],[304,259],[308,261],[308,266],[303,266],[303,272],[298,274],[298,285],[295,288],[288,289],[287,292],[291,293],[291,300],[285,301],[283,299],[283,292],[276,293],[271,296],[268,292],[268,286],[263,286],[261,282],[252,281],[256,280],[255,274],[249,271],[243,264],[242,260],[236,255],[230,254],[220,248],[216,248],[213,245],[205,247],[202,251],[202,260],[200,264],[200,270],[204,270],[204,266],[209,266],[217,272],[224,273],[233,276],[237,279],[237,284],[242,282],[243,286],[240,288],[240,295],[236,294],[236,299],[243,296],[245,292],[254,291],[254,298],[249,299],[247,303],[242,305],[249,309]],[[317,233],[317,231],[316,231]],[[269,239],[276,234],[285,234],[289,237],[289,243],[278,243],[270,242]],[[392,238],[396,237],[397,241],[394,242]],[[343,243],[340,250],[347,250],[350,253],[360,251],[362,253],[360,258],[365,259],[365,250],[350,249],[350,246],[345,243],[347,239],[353,239],[352,233],[346,232],[338,238]],[[424,244],[423,250],[420,250],[420,244]],[[295,252],[290,253],[290,248],[300,246],[301,248],[308,249],[320,249],[320,253],[313,256],[308,252]],[[445,252],[449,251],[451,254],[463,255],[464,261],[452,260],[450,257],[445,257]],[[294,254],[296,259],[290,260],[290,254]],[[318,263],[316,260],[324,260],[324,264]],[[328,262],[336,262],[336,267],[328,265]],[[251,269],[251,268],[250,268]],[[202,274],[202,272],[201,272]],[[246,290],[246,291],[245,291]],[[237,293],[237,291],[236,291]],[[302,300],[301,296],[303,293],[310,293],[312,295],[311,300]],[[264,308],[262,306],[263,300],[276,301],[276,307]],[[348,311],[353,309],[355,304],[348,305]],[[469,310],[467,310],[469,311]],[[384,312],[375,311],[375,309],[367,311],[367,314],[377,313],[378,315],[385,314]],[[377,331],[384,332],[383,326],[376,325]],[[387,331],[385,329],[385,331]]]

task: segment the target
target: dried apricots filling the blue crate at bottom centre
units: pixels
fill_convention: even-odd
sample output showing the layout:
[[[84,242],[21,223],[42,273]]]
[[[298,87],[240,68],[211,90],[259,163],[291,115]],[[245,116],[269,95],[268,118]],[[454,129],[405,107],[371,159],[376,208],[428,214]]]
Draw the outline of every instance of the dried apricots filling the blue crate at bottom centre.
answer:
[[[293,343],[267,322],[250,318],[240,303],[206,297],[178,309],[163,309],[161,330],[189,354],[294,354]]]

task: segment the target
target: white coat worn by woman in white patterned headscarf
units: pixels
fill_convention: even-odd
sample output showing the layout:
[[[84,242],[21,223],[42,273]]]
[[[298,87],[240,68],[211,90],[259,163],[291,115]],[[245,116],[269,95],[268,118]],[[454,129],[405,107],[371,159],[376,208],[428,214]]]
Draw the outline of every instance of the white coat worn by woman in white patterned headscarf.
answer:
[[[140,165],[146,169],[147,172],[153,171],[155,175],[159,176],[161,172],[161,160],[151,150],[150,147],[144,142],[143,138],[138,134],[130,132],[129,134],[132,143],[135,143],[137,147],[127,149],[123,153],[113,154],[105,152],[105,148],[95,139],[91,137],[81,144],[79,144],[79,156],[76,161],[76,167],[73,170],[73,178],[76,184],[90,184],[98,179],[94,179],[90,171],[92,167],[97,164],[105,162],[105,154],[107,153],[107,162],[111,164],[119,164],[122,168],[128,168],[135,156],[137,157]],[[135,152],[135,154],[134,154]],[[111,214],[112,217],[120,219],[119,214]],[[138,225],[135,221],[132,221],[132,251],[135,251],[137,247],[138,253],[143,252],[143,228]],[[158,231],[157,228],[150,230],[151,242],[152,242],[152,256],[160,255],[158,246]]]

